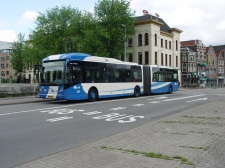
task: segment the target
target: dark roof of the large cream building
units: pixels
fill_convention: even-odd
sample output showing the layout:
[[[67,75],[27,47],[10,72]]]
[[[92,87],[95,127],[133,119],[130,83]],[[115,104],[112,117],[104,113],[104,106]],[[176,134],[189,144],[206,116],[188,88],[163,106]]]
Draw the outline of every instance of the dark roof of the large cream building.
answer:
[[[137,20],[137,22],[144,22],[144,21],[154,20],[156,22],[161,23],[161,26],[160,26],[160,30],[161,31],[166,32],[166,33],[171,33],[171,28],[166,24],[166,22],[163,19],[158,18],[156,16],[153,16],[151,14],[138,16],[138,17],[136,17],[136,20]],[[176,30],[182,32],[179,29],[176,29]]]

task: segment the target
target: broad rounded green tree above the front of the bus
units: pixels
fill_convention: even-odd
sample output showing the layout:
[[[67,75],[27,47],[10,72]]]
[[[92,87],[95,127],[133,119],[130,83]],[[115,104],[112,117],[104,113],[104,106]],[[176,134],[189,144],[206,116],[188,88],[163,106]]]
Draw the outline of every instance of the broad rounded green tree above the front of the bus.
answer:
[[[69,7],[55,7],[40,14],[32,33],[33,49],[43,57],[79,49],[81,12]],[[43,58],[42,57],[42,58]]]

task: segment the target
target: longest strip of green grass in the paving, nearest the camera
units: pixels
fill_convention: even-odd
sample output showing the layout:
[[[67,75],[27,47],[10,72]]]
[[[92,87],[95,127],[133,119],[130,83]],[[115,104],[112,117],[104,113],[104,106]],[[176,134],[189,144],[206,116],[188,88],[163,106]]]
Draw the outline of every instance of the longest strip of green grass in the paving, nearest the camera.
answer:
[[[128,150],[128,149],[122,149],[122,148],[111,148],[111,147],[107,147],[107,146],[102,146],[101,149],[118,150],[118,151],[122,151],[122,152],[125,152],[125,153],[131,153],[131,154],[134,154],[134,155],[143,155],[143,156],[150,157],[150,158],[157,158],[157,159],[164,159],[164,160],[178,159],[178,160],[180,160],[181,164],[193,165],[193,162],[191,162],[189,159],[184,158],[182,156],[168,156],[168,155],[164,155],[164,154],[161,154],[161,153],[141,152],[141,151],[137,151],[137,150]]]

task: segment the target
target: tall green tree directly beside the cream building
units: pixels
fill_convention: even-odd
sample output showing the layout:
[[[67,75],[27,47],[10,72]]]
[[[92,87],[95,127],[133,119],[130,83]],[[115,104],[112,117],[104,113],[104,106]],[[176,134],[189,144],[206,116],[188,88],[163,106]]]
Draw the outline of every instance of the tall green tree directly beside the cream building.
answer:
[[[95,39],[98,39],[95,48],[100,46],[103,49],[102,53],[101,51],[97,51],[97,54],[119,58],[119,55],[123,53],[124,49],[124,28],[122,24],[126,26],[127,36],[133,35],[135,32],[135,18],[134,12],[130,10],[130,1],[99,1],[95,5],[95,16],[98,21],[94,34]],[[89,38],[89,36],[87,37]],[[95,50],[93,49],[93,51]]]

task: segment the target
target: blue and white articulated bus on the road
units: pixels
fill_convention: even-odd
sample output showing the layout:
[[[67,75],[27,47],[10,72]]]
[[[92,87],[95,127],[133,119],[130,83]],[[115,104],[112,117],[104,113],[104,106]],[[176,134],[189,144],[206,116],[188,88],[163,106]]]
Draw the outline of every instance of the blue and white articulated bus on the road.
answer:
[[[51,55],[35,65],[39,97],[58,100],[172,93],[179,89],[178,69],[139,65],[85,53]]]

